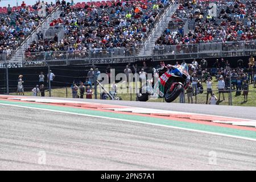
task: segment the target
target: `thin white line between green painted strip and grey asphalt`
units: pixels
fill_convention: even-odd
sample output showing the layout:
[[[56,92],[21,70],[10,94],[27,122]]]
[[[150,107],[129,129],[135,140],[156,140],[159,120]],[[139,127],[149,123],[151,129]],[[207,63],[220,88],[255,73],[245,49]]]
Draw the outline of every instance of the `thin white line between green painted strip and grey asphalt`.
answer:
[[[28,106],[18,106],[18,105],[11,105],[11,104],[2,104],[2,103],[0,103],[0,105],[15,106],[15,107],[23,107],[23,108],[27,108],[27,109],[37,109],[37,110],[53,111],[53,112],[56,112],[56,113],[73,114],[73,115],[83,115],[83,116],[94,117],[94,118],[113,119],[113,120],[117,120],[117,121],[126,121],[126,122],[141,123],[141,124],[146,124],[146,125],[154,125],[154,126],[169,127],[169,128],[172,128],[172,129],[179,129],[179,130],[186,130],[186,131],[194,131],[194,132],[197,132],[197,133],[205,133],[205,134],[219,135],[219,136],[223,136],[223,137],[245,139],[245,140],[251,140],[251,141],[256,142],[256,139],[254,139],[254,138],[238,137],[238,136],[235,136],[235,135],[228,135],[228,134],[221,134],[221,133],[213,133],[213,132],[202,131],[202,130],[185,129],[185,128],[183,128],[183,127],[160,125],[160,124],[155,124],[155,123],[147,123],[147,122],[143,122],[143,121],[133,121],[133,120],[129,120],[129,119],[110,118],[110,117],[103,117],[103,116],[98,116],[98,115],[71,113],[71,112],[67,112],[67,111],[58,111],[58,110],[42,109],[42,108],[35,108],[35,107],[28,107]]]

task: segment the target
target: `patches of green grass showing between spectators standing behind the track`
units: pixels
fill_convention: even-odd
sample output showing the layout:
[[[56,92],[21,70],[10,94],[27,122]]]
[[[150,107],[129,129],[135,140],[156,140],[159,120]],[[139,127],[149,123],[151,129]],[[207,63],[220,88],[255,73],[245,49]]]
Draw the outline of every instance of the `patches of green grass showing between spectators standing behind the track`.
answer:
[[[125,84],[122,83],[118,83],[118,97],[121,97],[122,100],[125,101],[136,101],[136,94],[133,93],[127,93],[127,88]],[[104,85],[105,88],[110,87],[110,85]],[[133,83],[133,86],[135,88],[135,83]],[[206,84],[203,83],[203,87],[204,87],[204,93],[203,94],[198,94],[197,95],[197,104],[205,104],[206,102],[206,98],[207,98],[207,92],[206,92]],[[100,98],[100,92],[103,92],[102,89],[98,88],[97,89],[97,98]],[[218,91],[217,91],[217,81],[214,78],[213,79],[213,92],[215,93],[215,95],[218,98]],[[16,93],[10,93],[13,95],[16,95]],[[25,92],[24,93],[26,96],[32,96],[32,92]],[[46,97],[49,96],[49,92],[46,91]],[[219,105],[229,105],[229,93],[224,93],[225,96],[225,101],[222,100],[222,94],[221,94],[221,99],[220,102],[218,103]],[[56,88],[56,89],[52,89],[51,90],[51,97],[67,97],[67,98],[72,98],[72,90],[71,88]],[[209,96],[210,97],[210,96]],[[84,98],[86,98],[86,96],[84,96]],[[93,94],[93,98],[94,98],[94,94]],[[232,105],[236,105],[236,106],[256,106],[256,88],[253,88],[253,84],[250,84],[249,87],[249,94],[248,94],[248,101],[244,102],[242,93],[241,96],[236,96],[236,92],[232,92]],[[193,103],[195,104],[195,96],[193,96]],[[164,102],[163,98],[158,98],[155,100],[149,100],[149,102]],[[179,103],[179,97],[174,101],[176,103]],[[187,100],[187,94],[185,95],[185,102],[188,103]],[[208,102],[209,103],[209,102]]]

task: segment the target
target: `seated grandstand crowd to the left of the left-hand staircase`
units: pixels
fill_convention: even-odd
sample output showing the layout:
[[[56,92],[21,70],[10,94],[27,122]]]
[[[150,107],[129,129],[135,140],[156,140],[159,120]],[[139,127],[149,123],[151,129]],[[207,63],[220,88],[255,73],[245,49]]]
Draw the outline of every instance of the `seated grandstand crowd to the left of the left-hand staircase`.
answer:
[[[23,1],[20,6],[3,7],[0,9],[0,53],[7,56],[18,48],[28,35],[43,21],[45,16],[54,9],[53,3],[36,2],[27,6]],[[46,10],[42,13],[41,9]]]

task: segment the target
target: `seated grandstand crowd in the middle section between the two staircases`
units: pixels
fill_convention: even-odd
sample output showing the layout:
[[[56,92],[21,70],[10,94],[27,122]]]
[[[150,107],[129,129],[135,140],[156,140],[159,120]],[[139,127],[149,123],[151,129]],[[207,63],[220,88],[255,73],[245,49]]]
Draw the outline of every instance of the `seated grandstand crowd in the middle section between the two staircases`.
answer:
[[[39,41],[32,43],[26,54],[137,47],[147,38],[168,5],[169,1],[158,0],[77,3],[72,6],[63,0],[60,17],[50,26],[64,26],[64,38],[39,36]]]

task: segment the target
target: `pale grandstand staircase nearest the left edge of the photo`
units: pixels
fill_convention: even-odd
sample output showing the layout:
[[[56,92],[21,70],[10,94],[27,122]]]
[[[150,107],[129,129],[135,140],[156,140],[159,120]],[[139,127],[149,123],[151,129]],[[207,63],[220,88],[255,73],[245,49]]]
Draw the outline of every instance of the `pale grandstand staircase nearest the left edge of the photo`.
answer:
[[[16,51],[14,51],[13,56],[9,60],[9,63],[15,63],[15,62],[20,62],[24,60],[24,53],[28,47],[30,47],[31,43],[35,40],[38,42],[38,36],[36,35],[39,31],[42,31],[43,34],[48,30],[49,28],[49,23],[52,22],[53,19],[59,18],[61,14],[60,7],[57,7],[55,10],[52,11],[51,14],[47,16],[46,19],[43,20],[43,22],[36,27],[36,30],[34,30],[30,36],[24,40],[24,42],[19,46]]]

